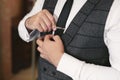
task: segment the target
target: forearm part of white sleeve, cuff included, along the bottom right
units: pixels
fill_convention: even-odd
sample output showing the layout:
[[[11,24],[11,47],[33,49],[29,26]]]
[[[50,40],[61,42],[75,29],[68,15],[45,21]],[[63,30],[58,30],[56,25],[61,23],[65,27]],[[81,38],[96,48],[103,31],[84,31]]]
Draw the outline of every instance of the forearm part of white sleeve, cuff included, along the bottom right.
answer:
[[[120,80],[117,69],[85,63],[66,53],[62,56],[57,70],[73,80]]]

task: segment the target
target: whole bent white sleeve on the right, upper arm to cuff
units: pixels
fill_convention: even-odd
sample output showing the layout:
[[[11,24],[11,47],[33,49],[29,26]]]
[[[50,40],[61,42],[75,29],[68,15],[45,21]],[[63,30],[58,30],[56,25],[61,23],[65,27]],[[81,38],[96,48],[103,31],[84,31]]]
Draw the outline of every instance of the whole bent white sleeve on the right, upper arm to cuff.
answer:
[[[58,71],[73,80],[120,80],[120,1],[114,1],[104,32],[111,67],[85,63],[64,53],[57,66]]]

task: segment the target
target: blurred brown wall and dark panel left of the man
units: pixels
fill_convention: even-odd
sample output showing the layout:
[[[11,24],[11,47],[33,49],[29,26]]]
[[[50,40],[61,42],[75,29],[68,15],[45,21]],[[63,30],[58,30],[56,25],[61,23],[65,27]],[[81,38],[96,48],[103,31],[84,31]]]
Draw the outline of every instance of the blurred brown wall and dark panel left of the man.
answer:
[[[0,80],[11,80],[31,66],[31,43],[19,38],[17,27],[34,0],[0,0]]]

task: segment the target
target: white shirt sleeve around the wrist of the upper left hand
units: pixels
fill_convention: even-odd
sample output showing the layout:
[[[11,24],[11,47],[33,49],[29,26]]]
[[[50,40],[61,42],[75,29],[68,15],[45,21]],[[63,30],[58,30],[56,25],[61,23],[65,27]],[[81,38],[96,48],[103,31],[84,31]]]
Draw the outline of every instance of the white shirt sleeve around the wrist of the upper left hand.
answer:
[[[39,34],[38,34],[39,32],[36,30],[33,30],[32,33],[29,34],[25,27],[25,21],[27,18],[31,17],[32,15],[35,15],[40,10],[42,10],[43,4],[44,4],[44,0],[36,0],[32,10],[20,21],[20,23],[18,25],[19,36],[21,37],[21,39],[23,39],[26,42],[30,42],[35,38],[35,36],[39,36]],[[30,36],[31,34],[32,34],[32,36],[33,36],[33,34],[35,36],[32,37],[32,36]]]

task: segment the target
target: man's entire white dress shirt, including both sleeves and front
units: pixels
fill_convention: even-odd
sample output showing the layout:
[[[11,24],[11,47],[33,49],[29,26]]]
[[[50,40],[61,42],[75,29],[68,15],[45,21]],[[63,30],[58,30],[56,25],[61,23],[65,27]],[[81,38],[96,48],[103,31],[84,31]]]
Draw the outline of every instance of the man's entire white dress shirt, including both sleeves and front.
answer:
[[[58,0],[57,2],[54,11],[56,21],[65,1],[66,0]],[[72,10],[65,26],[66,29],[86,1],[87,0],[74,0]],[[32,39],[30,39],[30,34],[26,30],[25,20],[39,12],[42,9],[43,3],[44,0],[37,0],[32,11],[19,23],[19,35],[26,42]],[[85,63],[64,53],[57,66],[57,70],[72,77],[73,80],[120,80],[120,0],[114,0],[113,2],[103,36],[104,42],[109,50],[111,67]]]

